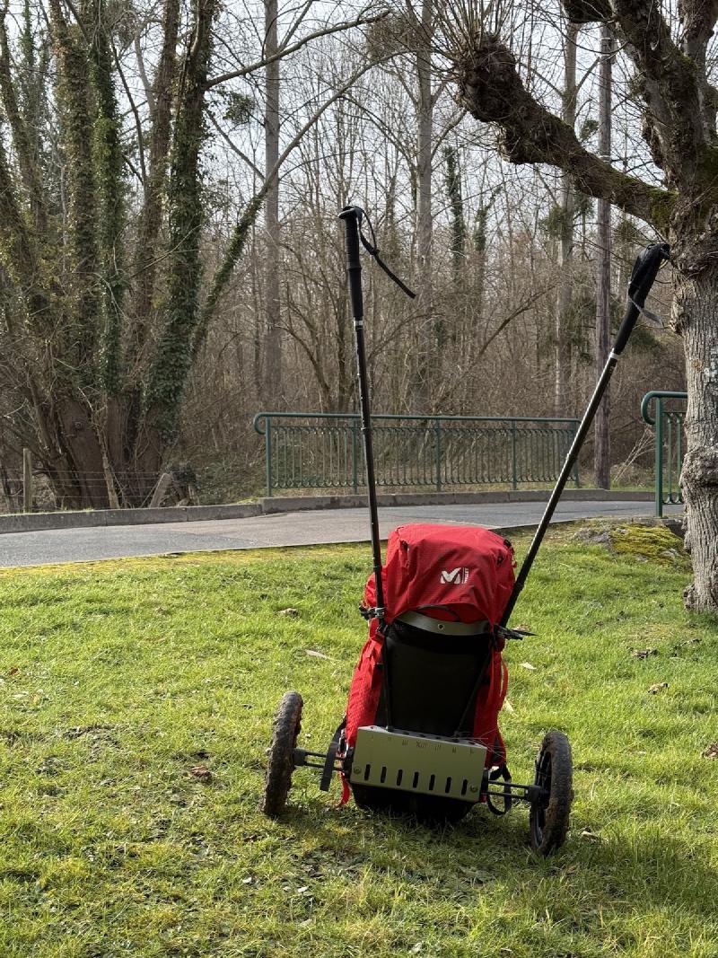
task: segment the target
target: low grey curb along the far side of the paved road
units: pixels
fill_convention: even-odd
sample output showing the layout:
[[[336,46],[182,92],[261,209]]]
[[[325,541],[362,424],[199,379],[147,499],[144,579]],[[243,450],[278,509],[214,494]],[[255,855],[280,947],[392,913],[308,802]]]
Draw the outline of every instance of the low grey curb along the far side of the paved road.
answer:
[[[398,506],[460,506],[482,503],[546,502],[549,490],[491,492],[395,492],[377,496],[380,508]],[[564,490],[562,500],[580,502],[652,502],[650,492],[611,492],[602,489]],[[98,509],[82,513],[14,513],[0,515],[0,535],[51,529],[101,526],[135,526],[166,522],[199,522],[210,519],[246,519],[258,515],[297,513],[305,510],[357,509],[366,506],[366,495],[297,495],[271,497],[258,503],[220,506],[184,506],[167,509]]]

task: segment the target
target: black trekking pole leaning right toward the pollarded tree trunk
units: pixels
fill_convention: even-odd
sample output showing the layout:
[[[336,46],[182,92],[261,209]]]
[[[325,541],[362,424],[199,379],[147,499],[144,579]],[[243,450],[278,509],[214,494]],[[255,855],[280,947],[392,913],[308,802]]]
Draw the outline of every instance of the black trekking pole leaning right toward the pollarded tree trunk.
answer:
[[[581,424],[578,426],[578,430],[573,437],[573,442],[571,448],[569,449],[569,454],[566,457],[564,467],[561,469],[561,474],[558,477],[558,481],[556,482],[556,485],[550,494],[546,511],[544,512],[541,522],[539,523],[538,528],[533,536],[528,549],[527,557],[524,559],[521,569],[519,570],[519,574],[516,577],[513,591],[511,592],[508,604],[506,604],[505,607],[504,615],[502,616],[500,623],[501,627],[505,627],[508,623],[511,612],[513,611],[513,607],[519,598],[521,590],[526,584],[528,573],[531,571],[531,566],[533,565],[533,560],[536,558],[536,553],[539,551],[541,542],[546,535],[546,530],[549,528],[551,516],[553,515],[555,508],[558,505],[558,500],[561,497],[561,493],[563,492],[564,487],[569,480],[571,470],[575,465],[576,459],[578,458],[578,453],[581,451],[581,446],[583,445],[583,441],[586,438],[586,434],[589,431],[591,423],[594,422],[595,411],[598,408],[601,399],[603,399],[603,394],[606,392],[606,388],[611,380],[611,376],[613,376],[614,368],[616,367],[618,358],[623,352],[626,343],[628,342],[628,339],[633,332],[634,327],[636,326],[636,321],[639,318],[639,314],[643,312],[646,296],[648,295],[651,286],[658,275],[661,263],[668,259],[668,255],[669,248],[666,243],[654,243],[651,246],[647,246],[646,249],[643,250],[634,264],[633,272],[631,274],[631,282],[628,285],[628,307],[626,308],[623,322],[618,330],[614,348],[609,354],[606,365],[603,367],[603,372],[598,378],[594,395],[591,397],[588,409],[584,413]]]

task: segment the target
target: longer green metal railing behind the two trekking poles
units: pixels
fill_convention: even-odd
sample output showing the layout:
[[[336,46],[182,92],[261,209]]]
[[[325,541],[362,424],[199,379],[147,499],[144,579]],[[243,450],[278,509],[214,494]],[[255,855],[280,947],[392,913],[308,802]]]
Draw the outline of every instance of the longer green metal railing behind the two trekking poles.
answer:
[[[383,487],[553,482],[578,427],[574,419],[372,416],[376,484]],[[356,413],[258,413],[267,495],[274,490],[351,489],[366,484]],[[576,488],[578,468],[573,471]]]

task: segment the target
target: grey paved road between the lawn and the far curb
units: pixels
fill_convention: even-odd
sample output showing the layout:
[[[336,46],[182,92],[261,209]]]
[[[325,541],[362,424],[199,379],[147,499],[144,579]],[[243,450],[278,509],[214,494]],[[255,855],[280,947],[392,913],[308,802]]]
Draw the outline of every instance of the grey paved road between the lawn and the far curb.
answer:
[[[379,510],[382,536],[407,522],[446,522],[482,525],[493,529],[537,523],[540,502],[491,503],[464,506],[414,506]],[[650,502],[567,501],[553,521],[591,516],[652,514]],[[680,511],[680,508],[672,511]],[[369,540],[364,509],[259,515],[248,519],[177,522],[146,526],[106,526],[99,529],[54,529],[0,536],[0,567],[42,565],[162,553],[215,549],[263,549],[285,545]]]

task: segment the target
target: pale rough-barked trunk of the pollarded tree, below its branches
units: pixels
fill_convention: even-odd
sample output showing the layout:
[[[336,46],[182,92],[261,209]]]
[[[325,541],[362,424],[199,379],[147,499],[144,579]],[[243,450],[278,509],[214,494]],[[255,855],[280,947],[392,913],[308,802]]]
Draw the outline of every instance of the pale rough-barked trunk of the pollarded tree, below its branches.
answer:
[[[681,473],[685,546],[694,581],[685,590],[692,609],[718,608],[718,267],[675,279],[674,320],[684,338],[688,451]]]

